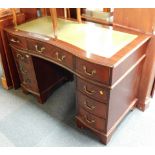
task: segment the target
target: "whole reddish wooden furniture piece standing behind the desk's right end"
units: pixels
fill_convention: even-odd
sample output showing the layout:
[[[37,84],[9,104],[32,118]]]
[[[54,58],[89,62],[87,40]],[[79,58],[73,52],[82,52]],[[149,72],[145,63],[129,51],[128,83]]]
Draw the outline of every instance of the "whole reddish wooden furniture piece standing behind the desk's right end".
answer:
[[[154,8],[117,8],[114,9],[114,23],[120,27],[151,34],[152,39],[147,47],[146,61],[142,71],[139,89],[138,108],[144,111],[150,102],[151,89],[155,79],[155,9]],[[147,76],[146,76],[147,75]]]

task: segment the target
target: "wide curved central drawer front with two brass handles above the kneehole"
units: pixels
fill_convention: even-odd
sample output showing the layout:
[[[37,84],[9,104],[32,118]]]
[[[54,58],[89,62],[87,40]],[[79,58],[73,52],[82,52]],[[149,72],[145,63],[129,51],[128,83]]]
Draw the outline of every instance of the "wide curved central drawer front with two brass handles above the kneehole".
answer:
[[[42,56],[51,58],[71,69],[73,68],[72,55],[58,47],[35,40],[28,40],[28,49]]]

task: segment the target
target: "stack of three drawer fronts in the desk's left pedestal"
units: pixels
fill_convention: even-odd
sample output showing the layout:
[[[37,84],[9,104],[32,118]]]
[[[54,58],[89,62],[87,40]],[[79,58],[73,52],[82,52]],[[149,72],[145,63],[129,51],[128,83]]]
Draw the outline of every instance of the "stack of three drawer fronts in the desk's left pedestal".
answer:
[[[32,91],[38,92],[37,80],[30,55],[13,52],[21,84]]]

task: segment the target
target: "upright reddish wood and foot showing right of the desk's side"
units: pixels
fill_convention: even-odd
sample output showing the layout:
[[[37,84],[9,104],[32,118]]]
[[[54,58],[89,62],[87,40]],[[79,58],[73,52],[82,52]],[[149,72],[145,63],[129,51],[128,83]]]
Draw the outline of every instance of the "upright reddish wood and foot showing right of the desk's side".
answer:
[[[151,90],[155,79],[155,36],[149,42],[139,88],[138,108],[144,111],[150,102]]]

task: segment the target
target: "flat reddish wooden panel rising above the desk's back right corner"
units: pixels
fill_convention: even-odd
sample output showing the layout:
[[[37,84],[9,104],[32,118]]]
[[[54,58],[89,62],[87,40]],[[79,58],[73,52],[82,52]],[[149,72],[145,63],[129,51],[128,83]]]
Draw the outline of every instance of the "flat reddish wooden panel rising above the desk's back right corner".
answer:
[[[114,9],[114,25],[134,29],[144,33],[155,30],[154,8],[116,8]]]

